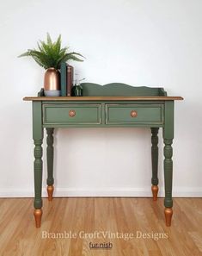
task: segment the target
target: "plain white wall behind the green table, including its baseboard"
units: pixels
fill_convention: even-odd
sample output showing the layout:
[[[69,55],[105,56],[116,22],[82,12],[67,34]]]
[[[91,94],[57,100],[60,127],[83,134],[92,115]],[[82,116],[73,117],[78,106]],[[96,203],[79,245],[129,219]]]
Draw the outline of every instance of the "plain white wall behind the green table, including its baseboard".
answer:
[[[22,97],[36,95],[44,70],[16,57],[49,32],[86,56],[73,65],[87,82],[185,97],[175,103],[174,196],[201,197],[201,11],[201,0],[1,1],[0,196],[34,195],[31,103]],[[150,196],[149,129],[57,129],[55,145],[57,196]],[[161,139],[159,147],[163,195]]]

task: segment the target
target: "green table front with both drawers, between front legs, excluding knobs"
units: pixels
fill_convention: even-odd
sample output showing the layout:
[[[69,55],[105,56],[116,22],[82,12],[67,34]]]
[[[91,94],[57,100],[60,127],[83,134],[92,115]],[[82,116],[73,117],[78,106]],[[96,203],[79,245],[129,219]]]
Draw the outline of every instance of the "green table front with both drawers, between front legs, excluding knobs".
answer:
[[[163,127],[163,102],[114,102],[84,101],[64,104],[64,102],[43,102],[43,127]],[[75,117],[69,110],[76,111]],[[132,118],[131,111],[137,110],[138,117]],[[115,112],[115,113],[113,113]],[[110,115],[109,115],[110,113]],[[110,117],[110,118],[109,118]],[[147,120],[146,120],[147,119]]]

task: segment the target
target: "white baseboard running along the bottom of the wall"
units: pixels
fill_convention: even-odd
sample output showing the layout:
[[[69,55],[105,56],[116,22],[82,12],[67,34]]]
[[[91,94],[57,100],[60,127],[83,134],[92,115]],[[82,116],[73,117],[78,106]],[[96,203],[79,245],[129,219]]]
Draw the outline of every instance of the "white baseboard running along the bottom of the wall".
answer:
[[[159,197],[164,197],[164,189],[160,188]],[[0,189],[0,197],[34,197],[34,189]],[[46,188],[42,197],[47,197]],[[151,197],[148,187],[143,188],[56,188],[54,197]],[[202,187],[174,187],[173,197],[202,197]]]

